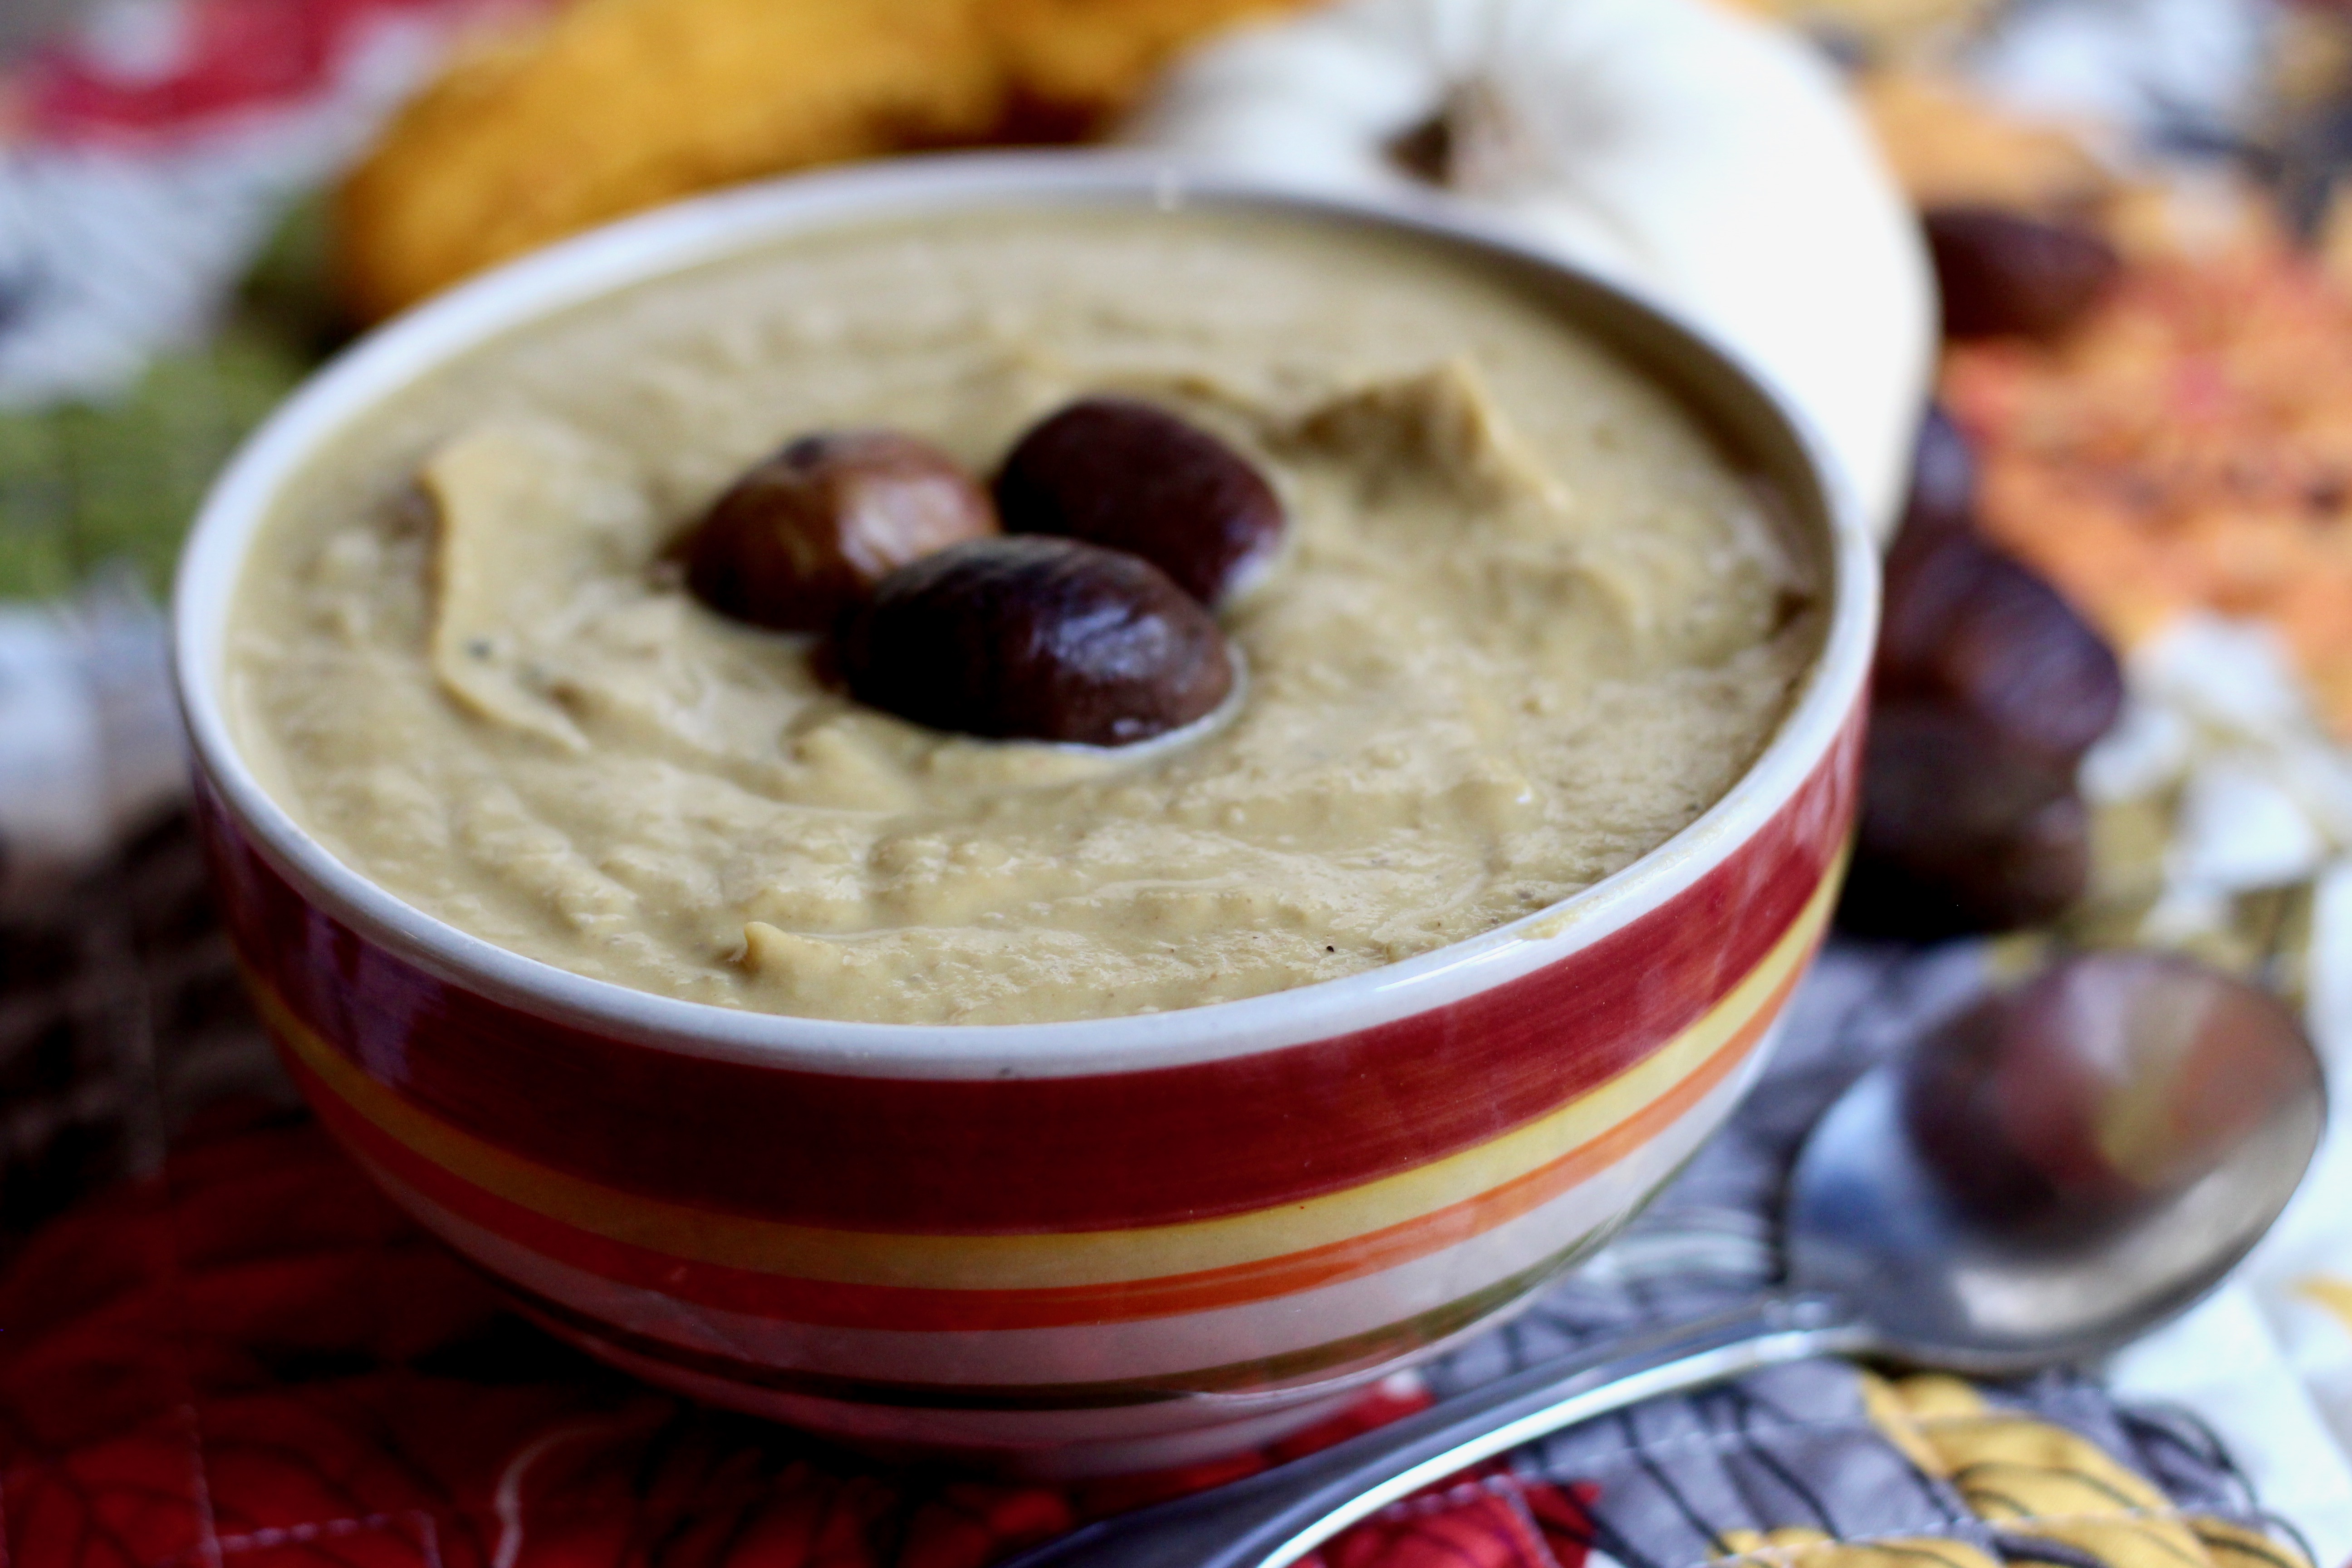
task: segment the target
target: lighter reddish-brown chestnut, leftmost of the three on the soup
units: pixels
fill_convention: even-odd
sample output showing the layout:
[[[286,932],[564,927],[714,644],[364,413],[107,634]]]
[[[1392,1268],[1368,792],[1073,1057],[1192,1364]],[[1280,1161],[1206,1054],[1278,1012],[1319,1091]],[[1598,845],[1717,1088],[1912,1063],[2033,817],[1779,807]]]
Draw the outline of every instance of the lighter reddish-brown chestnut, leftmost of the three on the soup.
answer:
[[[929,442],[804,435],[710,505],[684,545],[687,585],[736,621],[814,632],[898,567],[995,531],[988,496]]]

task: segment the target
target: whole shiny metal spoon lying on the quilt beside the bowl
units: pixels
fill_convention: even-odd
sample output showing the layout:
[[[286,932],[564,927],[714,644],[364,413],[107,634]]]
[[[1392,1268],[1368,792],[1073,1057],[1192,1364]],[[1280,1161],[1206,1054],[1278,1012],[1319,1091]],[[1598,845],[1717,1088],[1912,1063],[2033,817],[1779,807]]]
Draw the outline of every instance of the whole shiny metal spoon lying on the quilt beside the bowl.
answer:
[[[2074,1105],[2053,1114],[2044,1091]],[[2265,994],[2152,954],[2070,959],[1865,1074],[1813,1126],[1788,1190],[1788,1293],[1529,1366],[1007,1568],[1279,1568],[1548,1432],[1785,1361],[2009,1375],[2098,1356],[2220,1284],[2324,1124],[2319,1058]],[[1952,1147],[1969,1152],[1957,1175],[1936,1154]],[[2122,1168],[2098,1157],[2117,1147]],[[2013,1180],[1987,1180],[1999,1159]],[[2133,1173],[2166,1185],[2133,1190]]]

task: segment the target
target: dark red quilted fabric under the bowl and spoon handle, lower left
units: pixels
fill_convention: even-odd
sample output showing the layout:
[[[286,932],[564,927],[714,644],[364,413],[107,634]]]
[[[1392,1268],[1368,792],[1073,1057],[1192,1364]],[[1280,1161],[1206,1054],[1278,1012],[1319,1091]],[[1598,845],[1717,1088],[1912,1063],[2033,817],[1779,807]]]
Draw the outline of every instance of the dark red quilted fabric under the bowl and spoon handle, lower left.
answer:
[[[7,1568],[981,1568],[1263,1462],[1073,1493],[670,1399],[508,1316],[308,1124],[198,1140],[0,1276]],[[1578,1568],[1581,1523],[1564,1490],[1484,1476],[1327,1563]]]

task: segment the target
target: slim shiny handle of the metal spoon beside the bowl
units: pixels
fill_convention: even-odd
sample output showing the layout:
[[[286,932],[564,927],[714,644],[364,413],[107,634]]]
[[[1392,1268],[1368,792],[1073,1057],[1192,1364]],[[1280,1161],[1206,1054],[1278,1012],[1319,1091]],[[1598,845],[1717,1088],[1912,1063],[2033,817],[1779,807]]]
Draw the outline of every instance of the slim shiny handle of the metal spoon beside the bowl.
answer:
[[[1538,1361],[1247,1481],[1096,1521],[1004,1568],[1279,1568],[1397,1497],[1548,1432],[1764,1366],[1867,1347],[1870,1333],[1828,1298],[1766,1298]]]

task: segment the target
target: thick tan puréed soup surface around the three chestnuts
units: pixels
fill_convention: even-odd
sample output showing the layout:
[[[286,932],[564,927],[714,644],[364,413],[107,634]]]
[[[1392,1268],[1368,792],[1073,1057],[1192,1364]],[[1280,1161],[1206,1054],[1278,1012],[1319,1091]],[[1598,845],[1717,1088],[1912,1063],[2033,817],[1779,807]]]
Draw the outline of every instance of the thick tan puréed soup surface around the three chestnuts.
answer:
[[[1197,733],[913,726],[666,555],[800,433],[985,475],[1089,393],[1214,430],[1289,510]],[[1392,964],[1656,849],[1776,729],[1820,576],[1670,395],[1484,263],[948,214],[637,287],[372,414],[263,527],[228,684],[303,827],[513,952],[776,1013],[1105,1018]]]

